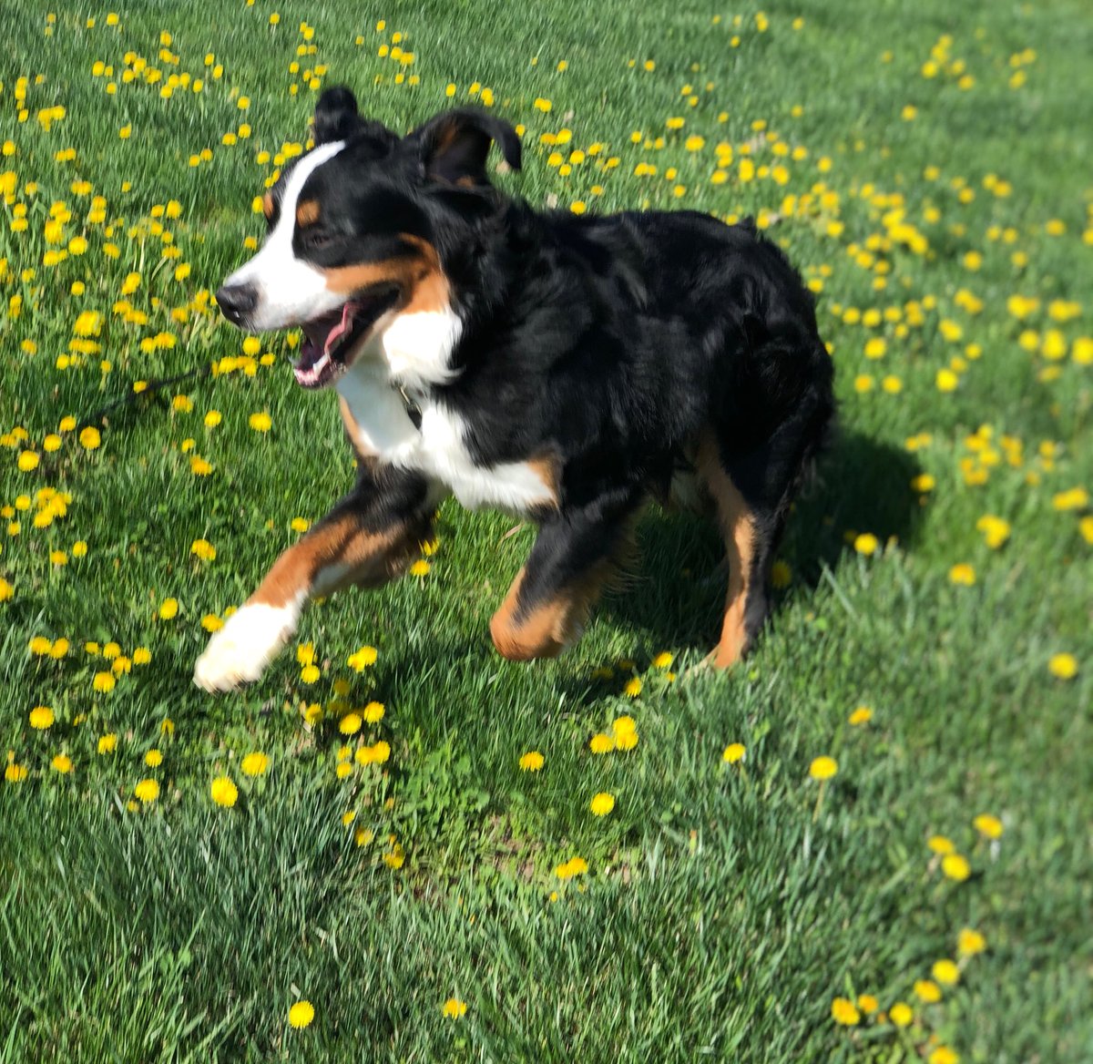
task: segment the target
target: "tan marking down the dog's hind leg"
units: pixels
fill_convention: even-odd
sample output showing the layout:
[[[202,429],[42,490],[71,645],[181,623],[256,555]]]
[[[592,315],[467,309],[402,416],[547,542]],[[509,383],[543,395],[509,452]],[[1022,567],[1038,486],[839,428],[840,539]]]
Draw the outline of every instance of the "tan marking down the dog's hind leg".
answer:
[[[729,589],[725,598],[725,622],[717,644],[714,664],[728,668],[740,659],[748,642],[744,607],[748,604],[749,581],[755,554],[755,518],[740,490],[721,466],[717,443],[710,435],[698,445],[698,475],[714,498],[718,523],[725,537],[729,562]]]

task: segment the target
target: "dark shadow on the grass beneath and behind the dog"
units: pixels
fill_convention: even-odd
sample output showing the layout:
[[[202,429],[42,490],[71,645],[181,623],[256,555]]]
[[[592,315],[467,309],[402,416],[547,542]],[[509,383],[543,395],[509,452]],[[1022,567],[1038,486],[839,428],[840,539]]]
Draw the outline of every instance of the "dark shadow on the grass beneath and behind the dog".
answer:
[[[910,486],[920,472],[910,453],[855,432],[839,432],[794,505],[776,558],[792,586],[814,587],[824,568],[853,550],[849,533],[895,537],[913,547],[922,507]],[[639,560],[600,609],[635,629],[635,643],[708,650],[724,613],[724,542],[709,519],[651,510],[638,527]],[[776,593],[777,611],[781,595]],[[642,633],[638,635],[638,632]]]

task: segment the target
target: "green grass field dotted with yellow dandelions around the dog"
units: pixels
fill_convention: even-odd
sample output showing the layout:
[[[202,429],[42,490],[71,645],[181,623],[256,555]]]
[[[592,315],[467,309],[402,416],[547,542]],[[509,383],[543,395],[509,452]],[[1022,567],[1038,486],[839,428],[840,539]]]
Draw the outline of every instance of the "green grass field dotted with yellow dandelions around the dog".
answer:
[[[0,0],[0,1060],[1093,1059],[1088,5],[113,10]],[[689,671],[719,543],[659,512],[504,662],[533,529],[449,504],[192,686],[352,482],[209,295],[338,83],[520,124],[536,204],[755,215],[819,293],[841,434],[743,666]]]

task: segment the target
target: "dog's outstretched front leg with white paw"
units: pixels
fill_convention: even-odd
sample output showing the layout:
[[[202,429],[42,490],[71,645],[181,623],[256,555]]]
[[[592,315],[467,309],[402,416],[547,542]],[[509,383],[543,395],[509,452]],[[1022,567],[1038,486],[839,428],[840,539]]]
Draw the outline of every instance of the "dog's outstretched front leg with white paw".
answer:
[[[295,633],[308,599],[398,576],[430,538],[435,506],[420,473],[362,464],[353,491],[277,560],[209,641],[193,682],[226,691],[257,680]]]

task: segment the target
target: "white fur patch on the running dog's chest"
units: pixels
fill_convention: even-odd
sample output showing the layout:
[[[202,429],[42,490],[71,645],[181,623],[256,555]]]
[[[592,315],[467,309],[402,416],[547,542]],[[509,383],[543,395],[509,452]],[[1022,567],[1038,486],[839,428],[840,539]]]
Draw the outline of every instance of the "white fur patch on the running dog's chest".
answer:
[[[354,365],[337,389],[345,426],[364,455],[416,469],[444,484],[468,510],[495,506],[526,514],[555,502],[551,483],[534,463],[478,465],[467,447],[467,425],[457,411],[425,404],[420,428],[381,366]]]

